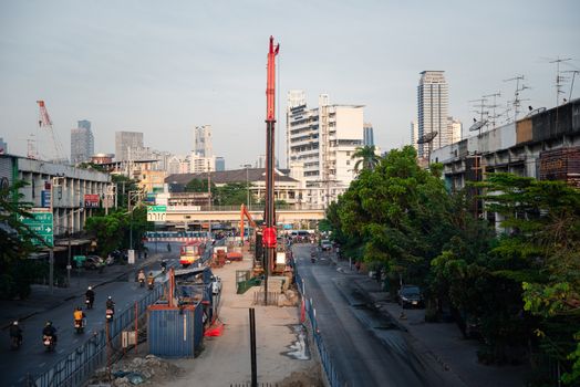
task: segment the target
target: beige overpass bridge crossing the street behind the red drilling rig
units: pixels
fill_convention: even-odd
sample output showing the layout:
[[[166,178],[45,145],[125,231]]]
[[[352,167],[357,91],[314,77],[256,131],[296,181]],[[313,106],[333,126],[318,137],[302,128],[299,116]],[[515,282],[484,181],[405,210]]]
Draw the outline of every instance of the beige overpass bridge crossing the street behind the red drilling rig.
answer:
[[[155,206],[165,207],[165,206]],[[263,207],[252,206],[251,210],[248,210],[253,220],[263,220]],[[211,208],[199,207],[199,206],[167,206],[165,212],[158,212],[158,216],[154,217],[147,213],[147,220],[175,223],[175,224],[193,224],[193,223],[205,223],[205,222],[239,222],[241,219],[241,212],[239,207],[231,206],[214,206]],[[276,221],[278,223],[294,224],[300,222],[320,221],[324,219],[324,209],[318,208],[277,208],[276,209]]]

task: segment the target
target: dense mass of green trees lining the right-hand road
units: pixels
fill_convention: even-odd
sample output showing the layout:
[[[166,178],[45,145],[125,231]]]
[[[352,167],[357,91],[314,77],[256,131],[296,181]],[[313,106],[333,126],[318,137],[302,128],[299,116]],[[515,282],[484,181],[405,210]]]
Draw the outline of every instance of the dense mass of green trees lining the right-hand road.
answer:
[[[405,147],[363,168],[329,206],[323,227],[345,254],[423,284],[429,300],[477,318],[486,362],[520,362],[531,345],[547,364],[560,364],[562,381],[577,384],[580,192],[560,181],[487,175],[474,185],[499,217],[497,234],[470,213],[473,190],[448,194],[441,166],[423,170],[415,158]]]

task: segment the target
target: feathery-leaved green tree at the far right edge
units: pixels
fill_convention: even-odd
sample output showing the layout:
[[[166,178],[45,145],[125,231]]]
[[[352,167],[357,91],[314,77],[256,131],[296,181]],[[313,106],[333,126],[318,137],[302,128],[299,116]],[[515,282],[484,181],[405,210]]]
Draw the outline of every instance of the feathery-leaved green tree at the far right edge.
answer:
[[[506,237],[498,257],[524,262],[512,278],[522,307],[540,317],[540,351],[565,370],[562,380],[580,381],[580,191],[563,181],[539,181],[508,174],[489,175],[483,185],[488,209],[504,217]],[[520,263],[521,264],[521,263]]]

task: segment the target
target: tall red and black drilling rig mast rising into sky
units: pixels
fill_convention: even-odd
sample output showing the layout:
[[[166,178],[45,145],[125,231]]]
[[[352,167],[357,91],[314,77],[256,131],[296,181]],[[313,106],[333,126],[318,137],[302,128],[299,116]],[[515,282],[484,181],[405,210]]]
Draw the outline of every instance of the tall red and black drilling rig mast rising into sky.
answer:
[[[265,228],[262,243],[265,245],[265,281],[263,281],[263,303],[268,305],[268,276],[270,265],[276,254],[276,215],[275,215],[275,126],[276,126],[276,55],[280,50],[280,44],[273,45],[273,36],[270,36],[268,50],[268,71],[266,84],[266,200],[265,200]]]

